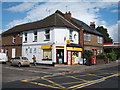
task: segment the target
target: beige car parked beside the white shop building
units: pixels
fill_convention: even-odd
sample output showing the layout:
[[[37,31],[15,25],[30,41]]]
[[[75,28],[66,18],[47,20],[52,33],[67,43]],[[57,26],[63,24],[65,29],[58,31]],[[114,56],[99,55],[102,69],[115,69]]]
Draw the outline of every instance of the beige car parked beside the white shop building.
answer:
[[[26,57],[15,57],[10,60],[10,65],[30,66],[30,61]]]

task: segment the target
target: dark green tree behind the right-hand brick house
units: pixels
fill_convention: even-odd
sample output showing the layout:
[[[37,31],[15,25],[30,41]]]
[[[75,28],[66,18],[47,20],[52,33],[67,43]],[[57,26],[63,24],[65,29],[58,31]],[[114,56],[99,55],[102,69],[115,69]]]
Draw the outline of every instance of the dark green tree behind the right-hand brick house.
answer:
[[[104,43],[113,42],[113,39],[109,36],[106,28],[104,28],[103,26],[98,26],[96,30],[103,34]]]

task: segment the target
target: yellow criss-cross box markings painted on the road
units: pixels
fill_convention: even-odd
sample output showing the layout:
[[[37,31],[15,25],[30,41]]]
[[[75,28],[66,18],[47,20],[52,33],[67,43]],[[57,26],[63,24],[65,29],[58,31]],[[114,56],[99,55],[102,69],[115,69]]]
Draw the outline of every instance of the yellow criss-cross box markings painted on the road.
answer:
[[[77,87],[81,87],[81,86],[86,86],[86,85],[89,85],[89,84],[92,84],[92,83],[97,83],[97,82],[100,82],[100,81],[103,81],[105,79],[108,79],[108,78],[111,78],[111,77],[114,77],[114,76],[118,76],[120,75],[120,73],[118,74],[113,74],[113,75],[110,75],[110,76],[107,76],[107,77],[102,77],[100,79],[97,79],[97,80],[93,80],[93,81],[87,81],[87,80],[83,80],[83,79],[78,79],[74,76],[67,76],[67,77],[70,77],[70,78],[74,78],[74,79],[78,79],[78,80],[82,80],[84,81],[85,83],[82,83],[82,84],[78,84],[78,85],[74,85],[74,86],[71,86],[71,87],[64,87],[62,85],[64,84],[75,84],[76,82],[68,82],[68,83],[64,83],[62,85],[58,84],[58,83],[55,83],[49,79],[46,79],[44,77],[39,77],[39,78],[35,78],[35,79],[27,79],[27,80],[21,80],[22,82],[28,82],[28,83],[32,83],[32,84],[36,84],[36,85],[41,85],[41,86],[45,86],[45,87],[51,87],[51,88],[58,88],[58,89],[73,89],[73,88],[77,88]],[[37,83],[37,82],[33,82],[33,80],[37,80],[37,79],[42,79],[42,80],[45,80],[47,82],[50,82],[52,85],[47,85],[47,84],[42,84],[42,83]],[[78,82],[79,83],[79,82]]]

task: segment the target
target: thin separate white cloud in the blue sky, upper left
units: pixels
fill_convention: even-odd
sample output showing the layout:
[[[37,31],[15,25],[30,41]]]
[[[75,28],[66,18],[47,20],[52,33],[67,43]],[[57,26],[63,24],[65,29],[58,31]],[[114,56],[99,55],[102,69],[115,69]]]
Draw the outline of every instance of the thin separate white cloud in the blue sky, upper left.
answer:
[[[30,2],[25,2],[25,3],[22,3],[22,4],[19,4],[17,6],[13,6],[13,7],[10,7],[6,10],[8,11],[12,11],[12,12],[22,12],[22,11],[27,11],[27,10],[30,10],[31,8],[33,8],[37,3],[33,2],[33,3],[30,3]]]

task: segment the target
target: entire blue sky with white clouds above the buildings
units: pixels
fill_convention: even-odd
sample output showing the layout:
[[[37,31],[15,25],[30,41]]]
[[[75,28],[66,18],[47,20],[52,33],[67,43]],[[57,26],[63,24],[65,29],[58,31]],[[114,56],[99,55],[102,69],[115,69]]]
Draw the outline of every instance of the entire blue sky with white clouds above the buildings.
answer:
[[[31,2],[30,2],[31,1]],[[41,1],[41,2],[40,2]],[[84,1],[84,2],[83,2]],[[119,0],[4,0],[2,1],[2,30],[15,25],[41,20],[56,10],[70,11],[72,17],[104,26],[114,42],[118,41]]]

